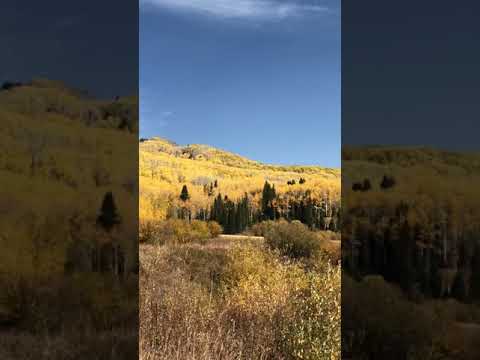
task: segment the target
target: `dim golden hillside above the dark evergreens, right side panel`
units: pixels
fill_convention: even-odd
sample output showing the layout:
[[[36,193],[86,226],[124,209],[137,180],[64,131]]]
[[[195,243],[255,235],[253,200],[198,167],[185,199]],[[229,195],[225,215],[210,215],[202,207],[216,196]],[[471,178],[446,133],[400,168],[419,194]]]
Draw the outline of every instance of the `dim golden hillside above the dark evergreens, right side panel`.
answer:
[[[426,147],[357,147],[343,149],[343,191],[351,206],[368,199],[368,203],[407,201],[422,212],[439,208],[439,204],[456,204],[480,219],[480,154],[453,152]],[[395,186],[382,191],[384,175],[395,178]],[[352,194],[352,185],[368,179],[371,191]],[[350,196],[347,193],[350,192]],[[347,203],[345,203],[347,205]],[[443,207],[444,205],[442,205]]]

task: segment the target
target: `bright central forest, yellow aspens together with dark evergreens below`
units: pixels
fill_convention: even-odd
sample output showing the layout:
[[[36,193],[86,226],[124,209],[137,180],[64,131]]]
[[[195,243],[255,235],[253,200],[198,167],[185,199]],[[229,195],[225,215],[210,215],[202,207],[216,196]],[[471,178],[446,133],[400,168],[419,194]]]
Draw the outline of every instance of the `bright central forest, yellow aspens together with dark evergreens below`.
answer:
[[[235,233],[246,223],[285,218],[336,230],[339,180],[338,169],[265,165],[206,145],[140,141],[142,222],[216,216],[228,233]],[[187,194],[181,196],[182,191]]]

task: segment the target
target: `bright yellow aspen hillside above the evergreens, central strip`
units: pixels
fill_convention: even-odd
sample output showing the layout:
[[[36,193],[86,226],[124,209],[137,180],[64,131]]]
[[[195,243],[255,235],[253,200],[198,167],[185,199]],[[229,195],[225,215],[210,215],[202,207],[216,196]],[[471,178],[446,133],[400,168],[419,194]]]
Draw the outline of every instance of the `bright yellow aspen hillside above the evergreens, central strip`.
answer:
[[[295,185],[287,184],[291,180]],[[188,186],[189,206],[198,210],[208,207],[218,194],[239,199],[248,193],[258,200],[265,181],[284,196],[300,197],[306,192],[316,199],[339,200],[340,196],[339,169],[262,164],[211,146],[180,146],[159,137],[140,141],[142,220],[165,218],[183,185]],[[208,194],[206,187],[215,182],[213,193]]]

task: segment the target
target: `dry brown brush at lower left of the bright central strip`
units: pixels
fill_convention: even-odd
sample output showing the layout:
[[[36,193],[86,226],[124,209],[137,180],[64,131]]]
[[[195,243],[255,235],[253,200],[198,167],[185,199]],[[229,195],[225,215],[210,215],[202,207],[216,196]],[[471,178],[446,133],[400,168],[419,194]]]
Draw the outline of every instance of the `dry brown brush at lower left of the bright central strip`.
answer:
[[[242,344],[210,290],[208,253],[140,248],[140,359],[238,359]],[[196,259],[187,264],[185,260]],[[206,265],[198,274],[198,266]],[[198,274],[195,279],[191,276]]]

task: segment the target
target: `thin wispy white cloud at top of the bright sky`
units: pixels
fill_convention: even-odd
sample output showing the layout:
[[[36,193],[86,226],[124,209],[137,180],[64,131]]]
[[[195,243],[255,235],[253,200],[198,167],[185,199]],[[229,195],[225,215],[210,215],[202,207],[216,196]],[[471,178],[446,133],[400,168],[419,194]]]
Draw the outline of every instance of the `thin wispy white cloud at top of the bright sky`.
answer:
[[[281,20],[327,12],[326,6],[298,0],[140,0],[142,8],[163,8],[226,19]]]

